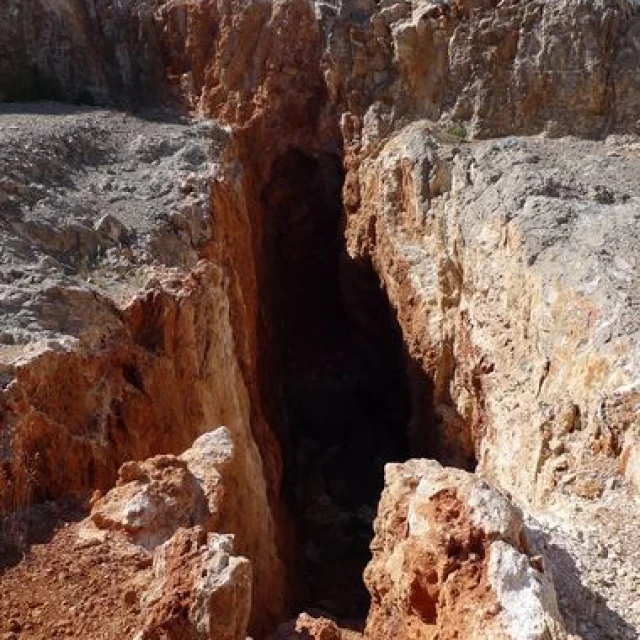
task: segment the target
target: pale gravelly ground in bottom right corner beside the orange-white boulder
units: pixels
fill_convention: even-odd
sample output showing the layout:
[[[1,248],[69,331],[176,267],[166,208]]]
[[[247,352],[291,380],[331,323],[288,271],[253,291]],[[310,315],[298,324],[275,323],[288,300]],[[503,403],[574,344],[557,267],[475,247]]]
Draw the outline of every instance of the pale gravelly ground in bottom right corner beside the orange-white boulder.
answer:
[[[638,502],[612,483],[597,500],[564,495],[529,522],[549,558],[567,629],[578,638],[637,638]]]

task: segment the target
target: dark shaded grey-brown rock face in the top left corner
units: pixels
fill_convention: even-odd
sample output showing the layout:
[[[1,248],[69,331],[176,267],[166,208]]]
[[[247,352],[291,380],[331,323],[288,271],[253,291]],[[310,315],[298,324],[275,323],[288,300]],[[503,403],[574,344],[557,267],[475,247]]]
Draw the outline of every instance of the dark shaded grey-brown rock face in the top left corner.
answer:
[[[153,4],[5,3],[1,99],[157,104],[165,74]]]

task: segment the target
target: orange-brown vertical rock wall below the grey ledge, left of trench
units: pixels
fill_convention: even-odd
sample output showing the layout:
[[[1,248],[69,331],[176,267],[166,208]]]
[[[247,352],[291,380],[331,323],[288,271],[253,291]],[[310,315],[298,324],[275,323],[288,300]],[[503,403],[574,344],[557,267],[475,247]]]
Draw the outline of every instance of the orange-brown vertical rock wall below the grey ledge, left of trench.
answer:
[[[202,263],[121,311],[121,328],[69,353],[45,352],[5,391],[5,509],[107,490],[125,460],[178,453],[226,425],[246,452],[240,489],[255,518],[229,521],[256,569],[252,625],[267,628],[284,606],[284,574],[252,408],[236,355],[222,271]],[[277,447],[265,446],[277,452]],[[265,456],[268,460],[268,457]],[[272,492],[272,489],[270,489]],[[245,508],[242,512],[250,512]]]

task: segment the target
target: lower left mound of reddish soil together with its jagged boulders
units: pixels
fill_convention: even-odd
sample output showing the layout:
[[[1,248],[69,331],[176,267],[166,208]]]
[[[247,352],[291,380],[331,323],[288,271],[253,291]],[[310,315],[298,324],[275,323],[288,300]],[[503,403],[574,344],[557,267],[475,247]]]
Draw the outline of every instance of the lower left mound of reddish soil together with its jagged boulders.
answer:
[[[64,567],[60,594],[46,596],[53,572],[46,552],[36,552],[31,567],[8,572],[7,585],[24,580],[26,569],[32,597],[45,591],[39,622],[34,625],[29,609],[14,608],[12,599],[3,604],[3,618],[27,637],[62,629],[66,637],[244,640],[250,626],[260,632],[264,619],[256,619],[256,599],[266,574],[260,568],[262,575],[254,575],[254,567],[263,565],[269,543],[263,523],[251,520],[257,501],[247,504],[242,526],[228,520],[242,513],[238,503],[250,490],[245,473],[225,427],[200,436],[180,457],[124,464],[118,485],[95,498],[91,515],[44,545],[55,552],[53,566]],[[117,565],[117,579],[109,579],[100,562]],[[62,624],[58,607],[70,597],[78,619]]]

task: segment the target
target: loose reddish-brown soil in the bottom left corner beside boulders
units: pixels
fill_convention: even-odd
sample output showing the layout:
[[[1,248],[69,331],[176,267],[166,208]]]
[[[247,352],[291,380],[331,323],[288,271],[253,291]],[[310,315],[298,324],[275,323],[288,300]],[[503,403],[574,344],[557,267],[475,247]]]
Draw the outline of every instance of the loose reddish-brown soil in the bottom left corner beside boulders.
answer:
[[[45,544],[0,573],[0,639],[133,637],[137,585],[150,556],[134,547],[87,544],[65,523]]]

